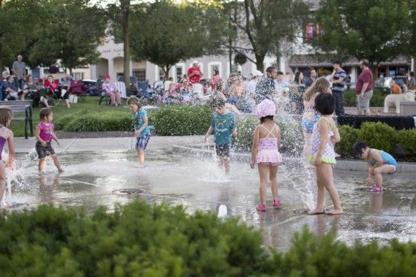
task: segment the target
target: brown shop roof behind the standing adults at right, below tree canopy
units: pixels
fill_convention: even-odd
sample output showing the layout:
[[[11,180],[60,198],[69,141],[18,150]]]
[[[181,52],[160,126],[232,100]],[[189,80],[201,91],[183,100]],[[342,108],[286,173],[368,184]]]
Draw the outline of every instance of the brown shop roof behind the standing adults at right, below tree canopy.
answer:
[[[328,55],[308,54],[308,55],[292,55],[289,60],[291,67],[331,67],[333,60]],[[381,62],[379,66],[387,65],[410,65],[410,59],[404,55],[399,55],[394,59]],[[358,60],[353,57],[343,62],[343,66],[358,66]]]

